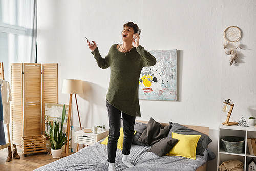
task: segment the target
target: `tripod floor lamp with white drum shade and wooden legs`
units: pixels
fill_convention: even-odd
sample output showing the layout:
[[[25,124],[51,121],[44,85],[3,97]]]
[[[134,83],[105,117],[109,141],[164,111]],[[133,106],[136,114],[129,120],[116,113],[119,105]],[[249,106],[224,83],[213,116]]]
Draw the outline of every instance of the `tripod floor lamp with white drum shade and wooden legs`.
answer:
[[[68,152],[69,152],[69,136],[70,136],[70,122],[71,122],[72,95],[75,94],[75,99],[76,99],[76,94],[83,93],[83,90],[82,90],[82,80],[64,79],[63,80],[63,86],[62,86],[62,93],[70,94],[70,97],[69,97],[69,112],[68,112],[68,121],[67,121],[67,140],[68,140],[68,142],[66,143],[65,150],[64,150],[64,152],[66,153],[66,156],[68,156]],[[79,123],[80,123],[80,129],[82,129],[80,115],[79,115],[79,111],[78,111],[77,99],[76,99],[76,107],[77,107],[78,119],[79,119]],[[67,151],[66,151],[66,149],[67,149]]]

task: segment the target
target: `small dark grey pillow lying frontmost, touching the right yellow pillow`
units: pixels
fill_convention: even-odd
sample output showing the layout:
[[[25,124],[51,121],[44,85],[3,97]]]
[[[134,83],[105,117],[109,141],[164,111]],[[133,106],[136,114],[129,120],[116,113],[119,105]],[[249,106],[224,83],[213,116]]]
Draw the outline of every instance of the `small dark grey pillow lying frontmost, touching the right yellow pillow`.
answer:
[[[159,157],[165,156],[178,142],[178,139],[165,137],[162,138],[159,142],[155,143],[148,152],[153,152]]]

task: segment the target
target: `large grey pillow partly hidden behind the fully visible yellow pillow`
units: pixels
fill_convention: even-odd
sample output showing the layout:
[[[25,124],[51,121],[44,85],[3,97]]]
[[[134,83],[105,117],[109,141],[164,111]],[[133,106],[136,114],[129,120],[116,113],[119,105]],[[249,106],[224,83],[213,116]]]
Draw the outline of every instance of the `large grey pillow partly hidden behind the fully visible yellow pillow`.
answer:
[[[183,135],[201,135],[197,143],[196,155],[204,155],[204,151],[207,148],[208,144],[212,142],[208,135],[205,135],[193,129],[189,129],[188,127],[180,125],[179,123],[169,122],[169,124],[172,125],[172,128],[169,131],[168,137],[172,137],[172,132]]]

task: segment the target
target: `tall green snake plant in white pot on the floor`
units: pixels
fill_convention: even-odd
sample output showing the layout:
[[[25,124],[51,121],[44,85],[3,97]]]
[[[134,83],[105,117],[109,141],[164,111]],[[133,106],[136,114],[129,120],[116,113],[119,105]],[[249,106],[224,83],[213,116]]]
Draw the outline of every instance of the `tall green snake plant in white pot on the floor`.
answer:
[[[62,146],[67,143],[66,133],[63,133],[63,123],[65,120],[65,105],[63,106],[62,110],[62,117],[61,117],[61,126],[59,126],[58,121],[56,120],[53,125],[50,124],[50,131],[49,136],[45,132],[46,136],[49,138],[51,143],[51,152],[53,158],[60,158],[62,153]],[[50,123],[50,122],[49,122]],[[59,130],[60,127],[60,130]],[[71,138],[69,139],[71,140]]]

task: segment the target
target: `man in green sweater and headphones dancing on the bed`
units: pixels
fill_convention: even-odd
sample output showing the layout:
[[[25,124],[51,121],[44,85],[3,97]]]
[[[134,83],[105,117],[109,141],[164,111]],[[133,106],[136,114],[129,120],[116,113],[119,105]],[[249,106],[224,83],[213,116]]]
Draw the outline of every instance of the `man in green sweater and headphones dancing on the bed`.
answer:
[[[108,55],[102,58],[96,42],[89,49],[102,69],[110,67],[109,89],[106,106],[109,116],[108,162],[109,170],[115,170],[117,140],[120,136],[120,119],[123,118],[123,158],[127,167],[133,165],[127,160],[134,135],[135,117],[141,116],[138,89],[139,77],[143,67],[156,64],[156,58],[140,45],[140,32],[137,24],[128,22],[123,25],[122,44],[111,46]]]

